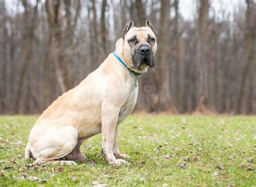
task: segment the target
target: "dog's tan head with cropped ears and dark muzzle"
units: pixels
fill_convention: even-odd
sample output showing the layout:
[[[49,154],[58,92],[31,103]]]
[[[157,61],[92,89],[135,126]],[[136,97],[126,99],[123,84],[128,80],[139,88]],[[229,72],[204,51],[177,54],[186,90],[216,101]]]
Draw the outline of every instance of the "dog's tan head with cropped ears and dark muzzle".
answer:
[[[152,24],[148,20],[143,27],[134,27],[133,22],[127,23],[122,38],[117,41],[116,50],[136,72],[145,73],[147,67],[154,67],[157,39]]]

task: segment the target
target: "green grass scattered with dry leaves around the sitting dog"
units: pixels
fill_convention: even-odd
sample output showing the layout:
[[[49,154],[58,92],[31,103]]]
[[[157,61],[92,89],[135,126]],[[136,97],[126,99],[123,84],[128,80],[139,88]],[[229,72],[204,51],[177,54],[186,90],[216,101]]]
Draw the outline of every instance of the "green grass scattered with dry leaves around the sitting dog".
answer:
[[[37,117],[0,116],[0,186],[92,186],[93,181],[108,186],[256,184],[256,117],[130,116],[119,135],[121,153],[131,156],[130,165],[107,164],[99,134],[83,143],[84,163],[29,167],[33,161],[25,161],[23,154]]]

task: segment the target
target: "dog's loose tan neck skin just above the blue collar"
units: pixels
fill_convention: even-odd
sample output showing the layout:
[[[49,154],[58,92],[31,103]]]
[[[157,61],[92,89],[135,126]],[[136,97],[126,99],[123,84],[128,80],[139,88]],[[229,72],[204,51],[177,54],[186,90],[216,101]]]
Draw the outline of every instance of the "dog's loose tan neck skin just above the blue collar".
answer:
[[[147,72],[148,66],[146,66],[145,68],[134,68],[133,67],[133,63],[132,63],[131,59],[126,57],[126,55],[125,55],[123,38],[120,38],[119,40],[117,40],[116,53],[117,53],[118,57],[123,60],[123,62],[126,64],[126,66],[133,72],[136,72],[136,73],[146,73]]]

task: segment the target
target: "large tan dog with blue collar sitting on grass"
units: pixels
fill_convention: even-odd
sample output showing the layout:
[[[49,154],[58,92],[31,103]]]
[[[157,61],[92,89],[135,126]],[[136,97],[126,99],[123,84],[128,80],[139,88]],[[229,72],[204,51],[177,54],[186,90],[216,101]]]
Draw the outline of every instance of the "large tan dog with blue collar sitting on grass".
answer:
[[[78,86],[59,96],[30,131],[25,159],[34,165],[84,161],[81,144],[102,133],[102,151],[109,164],[127,163],[118,147],[118,127],[132,112],[138,77],[154,67],[157,39],[152,24],[125,25],[116,50]]]

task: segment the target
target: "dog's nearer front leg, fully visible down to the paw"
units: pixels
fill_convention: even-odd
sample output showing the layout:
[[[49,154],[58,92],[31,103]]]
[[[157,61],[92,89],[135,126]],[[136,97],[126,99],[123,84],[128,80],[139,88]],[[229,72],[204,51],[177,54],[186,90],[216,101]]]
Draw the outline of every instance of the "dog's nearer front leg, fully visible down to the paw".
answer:
[[[113,154],[114,134],[116,133],[117,120],[120,108],[109,103],[102,104],[102,150],[107,162],[113,165],[126,163],[116,159]]]

